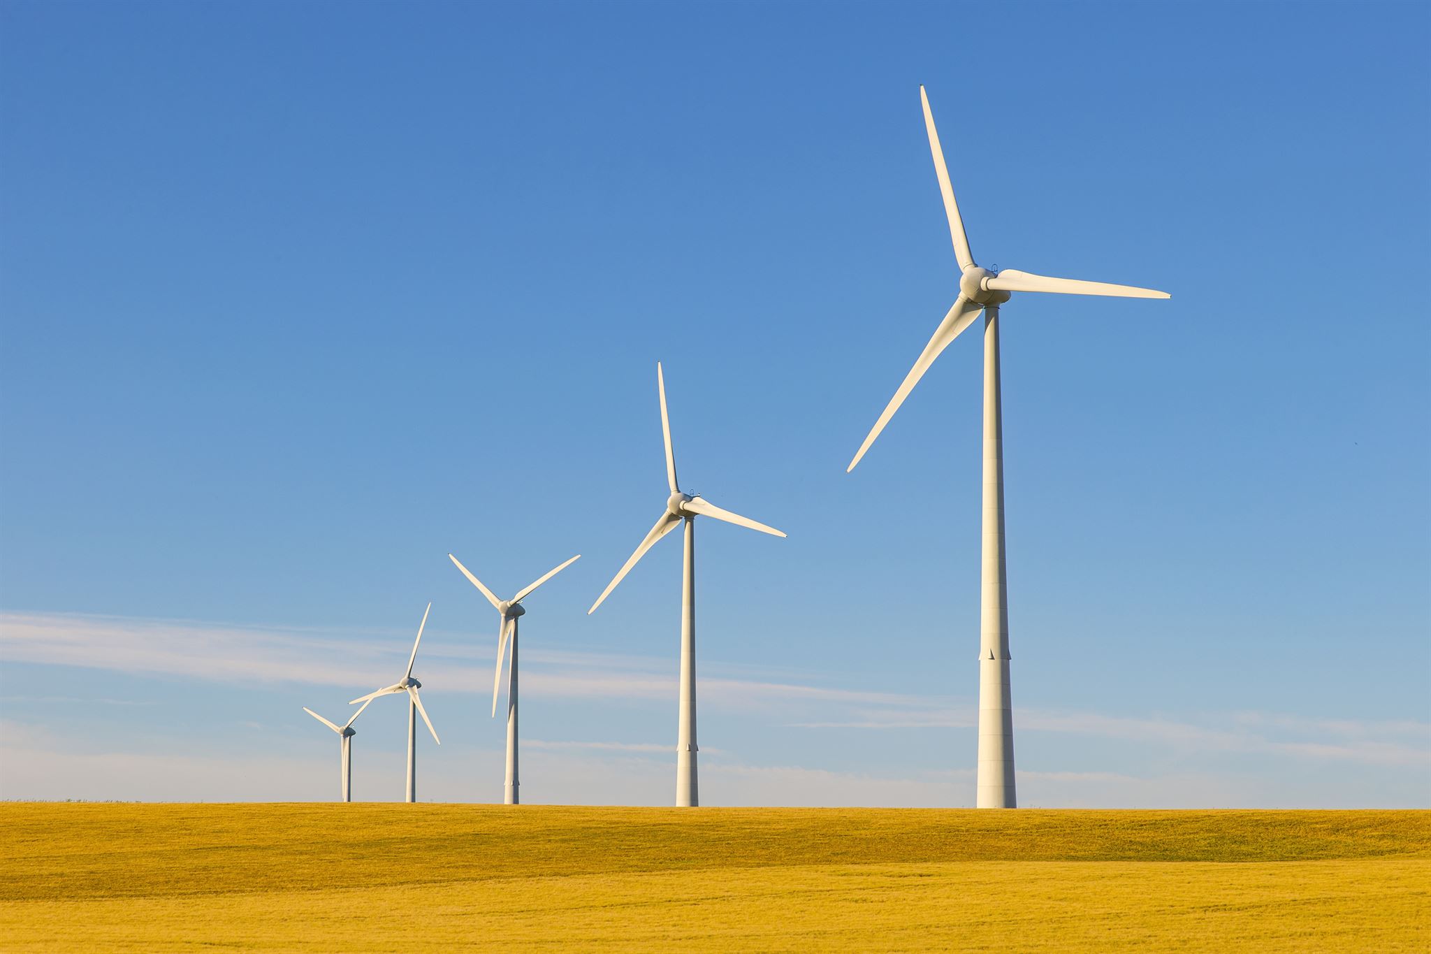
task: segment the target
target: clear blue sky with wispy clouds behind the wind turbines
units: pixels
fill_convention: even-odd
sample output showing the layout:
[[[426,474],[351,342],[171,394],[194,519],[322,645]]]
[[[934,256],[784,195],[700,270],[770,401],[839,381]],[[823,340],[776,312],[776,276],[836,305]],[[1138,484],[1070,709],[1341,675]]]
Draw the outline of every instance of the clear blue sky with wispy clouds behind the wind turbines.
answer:
[[[1420,4],[0,7],[0,797],[668,804],[685,485],[708,804],[973,801],[980,263],[1029,805],[1431,800]],[[355,794],[401,798],[401,704]],[[13,767],[26,765],[24,771]]]

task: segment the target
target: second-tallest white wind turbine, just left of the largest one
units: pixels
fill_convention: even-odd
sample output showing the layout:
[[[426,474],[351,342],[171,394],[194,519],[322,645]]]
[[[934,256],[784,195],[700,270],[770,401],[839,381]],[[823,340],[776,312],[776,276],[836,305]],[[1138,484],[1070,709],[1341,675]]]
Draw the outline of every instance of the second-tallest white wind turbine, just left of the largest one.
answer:
[[[611,595],[645,551],[655,545],[677,523],[685,522],[685,558],[681,569],[681,702],[680,722],[675,737],[675,804],[677,807],[698,805],[700,798],[695,785],[695,518],[713,516],[737,526],[748,526],[761,533],[784,536],[780,531],[764,523],[757,523],[748,516],[723,511],[714,503],[707,503],[694,493],[683,493],[675,481],[675,453],[671,451],[671,422],[665,413],[665,376],[661,372],[661,362],[655,363],[655,386],[661,395],[661,436],[665,441],[665,482],[671,488],[671,495],[665,498],[665,512],[655,521],[655,526],[645,535],[641,545],[635,548],[625,565],[607,584],[607,588],[597,596],[587,611],[590,616],[597,606]]]

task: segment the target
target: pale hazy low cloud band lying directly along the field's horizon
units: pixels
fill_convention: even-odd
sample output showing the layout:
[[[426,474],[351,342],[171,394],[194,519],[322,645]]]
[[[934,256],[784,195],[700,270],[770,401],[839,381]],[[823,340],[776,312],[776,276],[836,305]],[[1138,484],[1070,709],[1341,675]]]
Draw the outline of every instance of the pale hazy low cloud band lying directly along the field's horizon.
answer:
[[[275,752],[93,751],[80,737],[56,737],[34,727],[0,722],[0,764],[24,772],[0,774],[4,798],[90,798],[172,801],[328,801],[338,797],[338,749],[331,742]],[[449,747],[444,747],[444,751]],[[524,757],[522,800],[528,804],[670,805],[668,747],[595,749],[532,747]],[[499,802],[499,752],[454,745],[448,758],[422,767],[422,797],[432,801]],[[402,798],[402,751],[368,748],[353,768],[359,801]],[[155,780],[163,780],[155,788]],[[701,801],[711,805],[890,805],[960,807],[972,798],[973,769],[890,774],[831,771],[801,765],[751,765],[711,758],[701,765]],[[1417,794],[1388,797],[1365,788],[1311,795],[1295,782],[1249,781],[1219,772],[1146,777],[1122,772],[1019,772],[1026,807],[1358,807],[1417,805]]]

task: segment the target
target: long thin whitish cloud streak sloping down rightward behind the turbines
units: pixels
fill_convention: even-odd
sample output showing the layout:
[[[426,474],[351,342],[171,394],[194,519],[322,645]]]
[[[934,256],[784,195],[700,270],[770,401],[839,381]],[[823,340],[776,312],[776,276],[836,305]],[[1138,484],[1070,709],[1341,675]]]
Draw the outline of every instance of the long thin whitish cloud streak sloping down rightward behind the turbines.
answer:
[[[140,675],[179,677],[236,685],[292,682],[381,685],[402,665],[406,634],[376,642],[331,631],[278,626],[222,626],[192,621],[117,616],[0,614],[0,658],[10,662],[87,667]],[[491,664],[479,649],[425,642],[428,665],[442,678],[431,692],[487,694]],[[537,649],[524,654],[522,691],[560,699],[670,701],[675,692],[670,659]],[[421,667],[421,661],[419,661]],[[801,682],[791,674],[760,678],[743,667],[731,678],[716,667],[701,679],[704,705],[727,711],[766,711],[786,728],[801,729],[967,729],[969,707],[950,699],[896,692],[856,691]],[[47,698],[47,697],[34,697]],[[53,697],[60,698],[60,697]],[[1359,762],[1395,768],[1431,767],[1431,724],[1414,719],[1352,721],[1268,712],[1202,714],[1165,718],[1088,711],[1015,711],[1019,732],[1058,732],[1156,745],[1195,754],[1268,754],[1327,762]],[[665,752],[628,742],[542,742],[532,748],[587,748],[592,752]]]

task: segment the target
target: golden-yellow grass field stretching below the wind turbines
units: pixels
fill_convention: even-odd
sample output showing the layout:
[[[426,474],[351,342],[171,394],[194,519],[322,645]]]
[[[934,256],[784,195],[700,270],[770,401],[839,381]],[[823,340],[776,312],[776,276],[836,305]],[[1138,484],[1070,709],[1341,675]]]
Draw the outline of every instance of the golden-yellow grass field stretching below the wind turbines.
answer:
[[[1418,951],[1431,812],[0,804],[0,951]]]

